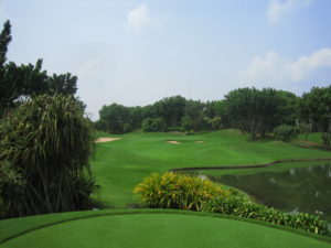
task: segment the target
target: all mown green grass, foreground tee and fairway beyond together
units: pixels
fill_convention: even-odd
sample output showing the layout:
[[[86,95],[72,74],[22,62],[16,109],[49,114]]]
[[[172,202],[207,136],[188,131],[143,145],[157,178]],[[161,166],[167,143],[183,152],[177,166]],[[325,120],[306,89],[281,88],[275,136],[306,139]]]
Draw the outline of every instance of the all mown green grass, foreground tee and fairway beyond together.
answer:
[[[140,200],[134,195],[132,190],[151,172],[162,173],[189,166],[263,164],[285,159],[331,159],[330,151],[273,140],[253,142],[248,136],[233,129],[189,137],[139,132],[125,136],[98,133],[97,137],[122,138],[97,143],[95,159],[92,159],[94,175],[102,186],[99,194],[94,197],[103,201],[107,208],[137,206]],[[171,140],[181,143],[167,142]],[[276,164],[253,171],[281,171],[313,164],[319,162]],[[233,171],[226,170],[226,173]],[[253,171],[243,170],[241,173]],[[224,171],[205,172],[222,174]],[[108,209],[6,219],[0,220],[0,247],[319,248],[330,247],[331,244],[328,237],[317,238],[305,233],[306,237],[297,229],[256,220],[243,222],[232,216],[214,216],[216,215],[169,209]],[[6,241],[1,244],[3,240]]]

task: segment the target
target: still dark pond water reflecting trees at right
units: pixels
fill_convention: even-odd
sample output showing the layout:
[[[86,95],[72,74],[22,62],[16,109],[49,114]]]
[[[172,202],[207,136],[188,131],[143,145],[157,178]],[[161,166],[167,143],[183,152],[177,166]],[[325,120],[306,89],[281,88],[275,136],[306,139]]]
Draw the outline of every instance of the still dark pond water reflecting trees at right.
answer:
[[[237,187],[270,207],[290,213],[319,213],[331,226],[331,164],[210,179]]]

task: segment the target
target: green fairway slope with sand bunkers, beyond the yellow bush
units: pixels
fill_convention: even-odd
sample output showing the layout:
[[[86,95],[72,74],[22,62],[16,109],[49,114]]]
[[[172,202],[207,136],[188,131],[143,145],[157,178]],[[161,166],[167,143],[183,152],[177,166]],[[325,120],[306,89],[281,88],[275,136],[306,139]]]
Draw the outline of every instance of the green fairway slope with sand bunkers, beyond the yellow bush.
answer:
[[[282,159],[331,158],[330,151],[305,149],[280,141],[252,142],[237,130],[184,137],[173,133],[130,133],[122,140],[98,143],[92,161],[98,196],[106,207],[130,207],[139,202],[132,188],[151,172],[173,168],[261,164]],[[181,141],[180,144],[167,140]],[[205,141],[195,143],[194,141]],[[276,165],[278,166],[278,165]]]

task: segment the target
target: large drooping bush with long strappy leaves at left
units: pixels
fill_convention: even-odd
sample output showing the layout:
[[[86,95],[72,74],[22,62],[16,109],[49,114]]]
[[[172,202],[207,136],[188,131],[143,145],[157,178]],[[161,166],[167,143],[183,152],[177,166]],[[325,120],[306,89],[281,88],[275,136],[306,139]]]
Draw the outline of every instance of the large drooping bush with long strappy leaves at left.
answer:
[[[74,97],[28,100],[1,120],[0,140],[6,168],[0,202],[7,216],[79,209],[97,188],[88,164],[90,122]]]

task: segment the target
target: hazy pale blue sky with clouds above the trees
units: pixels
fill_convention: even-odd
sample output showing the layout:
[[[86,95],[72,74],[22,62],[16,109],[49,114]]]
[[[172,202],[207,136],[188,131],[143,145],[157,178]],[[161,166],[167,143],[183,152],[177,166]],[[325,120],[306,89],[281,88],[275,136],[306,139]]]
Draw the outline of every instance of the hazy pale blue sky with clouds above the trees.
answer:
[[[77,75],[93,119],[113,103],[327,86],[330,13],[330,0],[0,0],[9,61]]]

